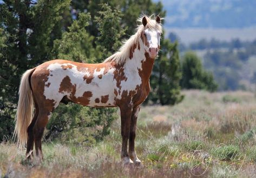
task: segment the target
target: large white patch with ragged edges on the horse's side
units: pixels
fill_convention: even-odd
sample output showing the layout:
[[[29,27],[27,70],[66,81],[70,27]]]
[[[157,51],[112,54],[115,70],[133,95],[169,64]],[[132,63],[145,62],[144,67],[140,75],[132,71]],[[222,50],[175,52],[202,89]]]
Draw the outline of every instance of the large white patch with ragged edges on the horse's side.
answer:
[[[63,70],[63,65],[71,65],[72,68],[67,68]],[[48,76],[48,82],[51,83],[49,87],[44,87],[44,96],[46,99],[55,101],[55,108],[58,106],[63,96],[67,95],[68,98],[71,95],[70,92],[63,91],[59,93],[60,85],[64,77],[68,76],[72,85],[76,85],[75,97],[82,97],[85,91],[91,91],[93,94],[89,98],[90,102],[88,106],[107,106],[107,103],[97,103],[95,104],[95,98],[101,98],[101,96],[109,95],[108,103],[114,104],[114,88],[116,81],[113,81],[114,77],[114,68],[109,69],[106,74],[104,74],[104,69],[101,68],[100,71],[94,70],[94,78],[91,83],[86,83],[83,77],[89,76],[90,72],[88,68],[84,68],[84,71],[78,71],[77,66],[70,63],[59,64],[52,63],[48,66],[50,75]],[[51,76],[52,75],[52,76]],[[98,76],[102,75],[100,79]]]

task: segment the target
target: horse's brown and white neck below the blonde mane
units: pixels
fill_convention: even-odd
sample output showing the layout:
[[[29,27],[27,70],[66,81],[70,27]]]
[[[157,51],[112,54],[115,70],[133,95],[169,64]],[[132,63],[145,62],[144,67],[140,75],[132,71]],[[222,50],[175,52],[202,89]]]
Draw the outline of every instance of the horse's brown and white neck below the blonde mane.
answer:
[[[139,44],[133,52],[132,58],[127,58],[124,68],[129,71],[134,71],[139,73],[140,77],[144,82],[148,82],[151,75],[154,59],[149,57],[148,52],[145,50],[145,45],[140,39]]]

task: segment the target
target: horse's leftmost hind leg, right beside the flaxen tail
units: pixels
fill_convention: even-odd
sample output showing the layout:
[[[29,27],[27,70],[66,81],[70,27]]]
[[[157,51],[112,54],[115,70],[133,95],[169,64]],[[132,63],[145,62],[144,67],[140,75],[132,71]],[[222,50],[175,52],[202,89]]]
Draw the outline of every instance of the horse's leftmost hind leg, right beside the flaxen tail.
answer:
[[[34,118],[32,119],[31,123],[29,124],[29,127],[28,127],[28,141],[27,141],[27,152],[26,152],[26,157],[28,160],[31,159],[31,156],[32,156],[32,151],[34,149],[34,133],[33,133],[33,128],[35,126],[35,123],[36,123],[36,119],[37,119],[37,116],[38,116],[38,106],[37,106],[37,103],[35,102],[35,107],[36,107],[36,111],[35,111],[35,115],[34,115]]]

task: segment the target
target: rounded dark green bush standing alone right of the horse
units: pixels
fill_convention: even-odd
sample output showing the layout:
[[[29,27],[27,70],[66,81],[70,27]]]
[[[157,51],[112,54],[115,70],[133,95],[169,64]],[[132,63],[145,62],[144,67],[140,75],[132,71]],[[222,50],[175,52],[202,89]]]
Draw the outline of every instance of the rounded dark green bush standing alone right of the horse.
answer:
[[[201,61],[194,52],[186,52],[181,62],[181,86],[185,89],[205,89],[216,91],[218,84],[214,81],[211,72],[203,69]]]

